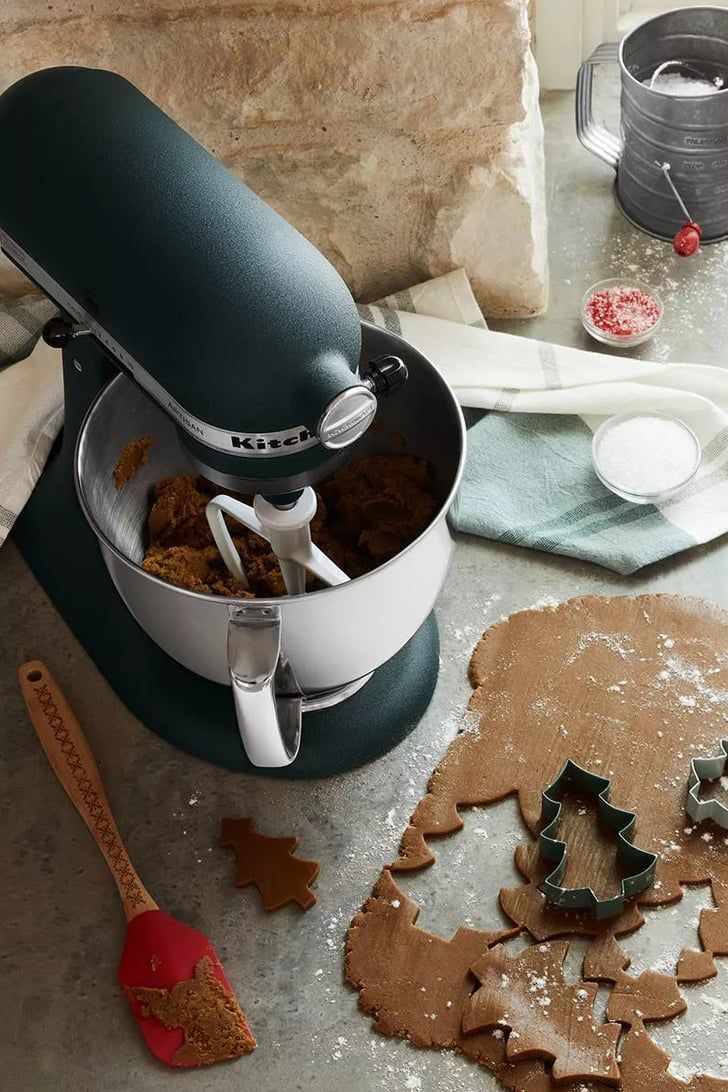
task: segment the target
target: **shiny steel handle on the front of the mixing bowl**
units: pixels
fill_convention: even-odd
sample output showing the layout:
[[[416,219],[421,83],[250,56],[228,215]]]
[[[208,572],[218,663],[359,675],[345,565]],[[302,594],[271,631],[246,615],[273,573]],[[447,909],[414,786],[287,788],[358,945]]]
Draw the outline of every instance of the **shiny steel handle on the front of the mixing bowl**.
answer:
[[[301,692],[281,650],[281,608],[230,608],[227,663],[235,712],[253,765],[290,765],[301,743]]]

